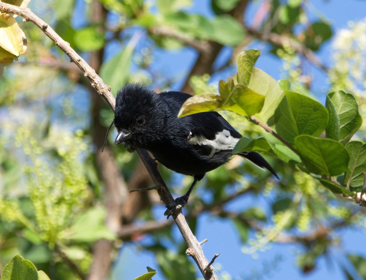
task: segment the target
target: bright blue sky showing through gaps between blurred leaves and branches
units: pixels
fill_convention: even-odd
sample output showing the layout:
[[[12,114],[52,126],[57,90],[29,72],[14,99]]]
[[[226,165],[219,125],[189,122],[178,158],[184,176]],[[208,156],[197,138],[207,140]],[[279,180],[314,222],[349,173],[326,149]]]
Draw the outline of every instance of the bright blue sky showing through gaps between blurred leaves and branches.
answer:
[[[209,14],[209,1],[193,1],[190,11],[200,14]],[[318,11],[332,24],[333,32],[347,27],[350,20],[358,21],[366,17],[366,1],[362,0],[315,0],[308,1],[312,11]],[[258,1],[249,7],[249,19],[253,15]],[[248,22],[250,24],[250,22]],[[280,79],[281,61],[273,55],[265,55],[266,49],[264,44],[257,44],[255,47],[262,49],[263,55],[258,59],[256,66],[275,79]],[[317,53],[321,60],[329,65],[330,42],[324,44],[320,52]],[[153,67],[161,72],[162,75],[172,76],[178,75],[184,78],[184,75],[192,67],[197,54],[189,48],[175,52],[156,52],[156,62]],[[312,68],[314,83],[312,92],[324,104],[327,86],[326,76],[321,70]],[[226,77],[221,77],[226,78]],[[174,84],[174,90],[179,90],[182,86],[183,79]],[[198,185],[199,188],[199,185]],[[197,191],[197,190],[195,190]],[[232,203],[232,207],[247,204],[261,205],[264,201],[253,198],[238,199]],[[158,206],[154,209],[158,219],[163,217],[164,208]],[[364,254],[363,246],[365,244],[361,240],[365,240],[365,235],[361,229],[347,229],[337,232],[342,237],[342,247],[334,249],[330,252],[331,258],[321,258],[317,263],[317,268],[307,275],[303,275],[295,265],[296,252],[301,248],[294,244],[272,244],[269,250],[259,253],[257,259],[253,259],[250,255],[243,254],[241,251],[241,243],[235,234],[235,228],[229,221],[224,221],[217,217],[203,214],[199,217],[199,227],[197,230],[198,240],[208,238],[209,241],[203,245],[203,251],[207,258],[212,258],[215,253],[220,253],[215,264],[220,264],[221,270],[219,275],[223,275],[227,271],[233,279],[257,279],[254,277],[256,272],[262,275],[262,272],[269,266],[274,265],[270,269],[267,276],[262,279],[344,279],[343,273],[339,269],[337,263],[345,263],[341,257],[343,253],[342,247],[347,248],[348,253]],[[174,236],[177,240],[182,240],[178,229],[175,228]],[[223,241],[224,240],[224,241]],[[337,263],[336,263],[337,262]],[[153,254],[143,253],[138,247],[132,243],[125,243],[120,251],[119,260],[116,263],[113,279],[133,279],[146,272],[146,266],[158,269]],[[154,280],[164,279],[158,272],[153,278]]]

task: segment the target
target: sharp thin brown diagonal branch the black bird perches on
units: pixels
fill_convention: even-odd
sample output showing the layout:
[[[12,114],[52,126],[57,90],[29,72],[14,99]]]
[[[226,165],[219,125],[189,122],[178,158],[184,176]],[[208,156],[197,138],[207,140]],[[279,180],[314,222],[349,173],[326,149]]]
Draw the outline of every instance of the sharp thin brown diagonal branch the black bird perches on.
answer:
[[[84,75],[89,79],[91,86],[93,86],[97,93],[107,101],[109,107],[114,111],[116,101],[111,94],[110,87],[106,85],[100,76],[96,74],[96,71],[70,47],[70,44],[64,41],[46,22],[36,16],[29,8],[21,8],[1,1],[0,12],[13,13],[22,16],[24,22],[30,21],[39,27],[60,49],[66,53],[67,56],[70,57],[71,61],[73,61],[83,71]],[[138,150],[137,152],[145,164],[150,176],[152,176],[154,183],[160,186],[160,188],[158,188],[158,194],[160,195],[161,200],[165,205],[168,205],[173,201],[173,197],[161,178],[154,160],[145,150]],[[205,279],[217,279],[217,276],[214,273],[212,273],[212,275],[205,273],[205,268],[209,262],[203,254],[197,238],[195,238],[191,229],[188,227],[187,221],[184,219],[182,212],[174,215],[173,219],[175,220],[184,241],[187,243],[188,249],[194,252],[192,257],[198,265],[203,277]]]

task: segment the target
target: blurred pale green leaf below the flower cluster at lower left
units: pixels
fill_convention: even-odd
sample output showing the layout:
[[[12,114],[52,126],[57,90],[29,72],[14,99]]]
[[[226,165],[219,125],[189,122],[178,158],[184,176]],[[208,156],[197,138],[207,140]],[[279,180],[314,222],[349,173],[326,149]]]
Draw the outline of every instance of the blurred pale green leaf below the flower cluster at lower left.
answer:
[[[116,235],[104,224],[105,216],[104,208],[90,208],[75,219],[63,235],[66,239],[80,242],[93,242],[98,239],[114,240]]]

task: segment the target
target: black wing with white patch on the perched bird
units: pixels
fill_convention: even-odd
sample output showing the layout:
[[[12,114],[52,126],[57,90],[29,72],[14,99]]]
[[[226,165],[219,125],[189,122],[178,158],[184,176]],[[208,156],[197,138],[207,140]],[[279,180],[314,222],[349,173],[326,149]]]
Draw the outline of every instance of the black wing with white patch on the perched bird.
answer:
[[[222,150],[232,150],[242,137],[219,113],[190,115],[188,141],[208,157]]]

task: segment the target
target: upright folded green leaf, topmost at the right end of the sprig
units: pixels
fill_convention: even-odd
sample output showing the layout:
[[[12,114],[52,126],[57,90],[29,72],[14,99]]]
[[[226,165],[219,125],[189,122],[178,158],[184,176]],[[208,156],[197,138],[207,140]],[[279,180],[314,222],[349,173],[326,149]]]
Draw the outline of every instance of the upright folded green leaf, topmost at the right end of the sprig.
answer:
[[[346,145],[362,124],[355,97],[341,90],[331,92],[326,96],[325,107],[329,112],[326,137]]]

